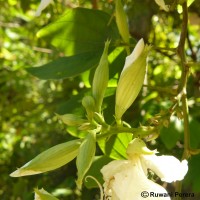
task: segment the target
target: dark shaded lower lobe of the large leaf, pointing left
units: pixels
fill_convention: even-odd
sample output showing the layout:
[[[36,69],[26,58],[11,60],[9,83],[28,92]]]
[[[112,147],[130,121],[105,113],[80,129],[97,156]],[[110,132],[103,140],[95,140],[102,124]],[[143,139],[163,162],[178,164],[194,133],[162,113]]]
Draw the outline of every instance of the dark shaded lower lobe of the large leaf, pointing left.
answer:
[[[97,66],[101,52],[87,52],[69,57],[62,57],[39,67],[26,70],[40,79],[63,79],[77,76]]]

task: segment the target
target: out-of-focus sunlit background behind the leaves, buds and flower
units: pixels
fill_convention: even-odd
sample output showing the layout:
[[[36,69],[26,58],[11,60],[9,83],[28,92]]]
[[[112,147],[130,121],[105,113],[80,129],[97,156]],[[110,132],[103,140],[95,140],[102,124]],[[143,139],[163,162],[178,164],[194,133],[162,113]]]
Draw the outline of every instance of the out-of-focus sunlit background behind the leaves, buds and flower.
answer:
[[[171,4],[174,1],[166,1]],[[191,64],[188,81],[188,103],[190,111],[191,146],[200,148],[200,1],[188,1],[189,26],[186,42],[187,59]],[[56,117],[55,113],[71,111],[82,113],[81,98],[90,89],[94,70],[81,75],[59,80],[41,80],[27,72],[27,68],[41,66],[65,52],[58,50],[48,40],[38,39],[37,32],[55,21],[66,10],[78,3],[85,8],[100,9],[110,15],[114,12],[112,0],[68,1],[55,0],[35,17],[39,0],[0,1],[0,199],[31,200],[33,188],[44,188],[60,199],[98,199],[98,189],[76,188],[76,166],[68,165],[41,175],[11,178],[9,174],[40,152],[53,145],[73,138]],[[156,47],[175,48],[181,31],[181,8],[163,12],[152,0],[126,1],[129,28],[133,40],[144,38]],[[84,17],[84,16],[83,16]],[[119,73],[123,67],[116,69]],[[125,115],[133,127],[145,123],[173,102],[173,89],[181,77],[178,58],[174,52],[159,48],[149,56],[148,81],[152,88],[143,89],[134,105]],[[116,76],[110,86],[116,86]],[[114,113],[114,94],[104,102],[105,113]],[[133,112],[134,111],[134,112]],[[181,113],[181,111],[180,111]],[[108,121],[112,116],[107,116]],[[157,142],[151,144],[163,154],[181,158],[183,151],[183,125],[172,117],[163,127]],[[101,154],[98,150],[97,154]],[[183,190],[195,192],[200,198],[200,156],[189,159],[189,172]],[[170,187],[173,187],[170,186]],[[173,189],[172,189],[173,190]]]

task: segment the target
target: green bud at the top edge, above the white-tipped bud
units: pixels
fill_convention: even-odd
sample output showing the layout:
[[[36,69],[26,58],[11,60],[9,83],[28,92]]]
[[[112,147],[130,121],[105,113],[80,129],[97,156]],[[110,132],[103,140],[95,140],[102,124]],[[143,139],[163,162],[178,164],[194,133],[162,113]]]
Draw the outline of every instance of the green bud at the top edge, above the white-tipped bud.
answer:
[[[121,0],[116,0],[115,4],[115,15],[116,22],[119,33],[126,44],[129,44],[129,28],[128,28],[128,19],[127,15],[123,9]],[[130,53],[129,48],[126,49],[127,53]]]

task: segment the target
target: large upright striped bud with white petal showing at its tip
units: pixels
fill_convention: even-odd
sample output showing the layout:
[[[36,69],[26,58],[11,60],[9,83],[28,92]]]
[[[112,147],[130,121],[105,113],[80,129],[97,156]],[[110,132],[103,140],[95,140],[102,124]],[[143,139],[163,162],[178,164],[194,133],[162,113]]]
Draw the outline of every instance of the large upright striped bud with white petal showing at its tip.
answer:
[[[117,121],[121,120],[122,115],[131,106],[141,90],[149,50],[150,47],[145,46],[143,39],[141,39],[131,55],[126,57],[116,91],[115,116]]]

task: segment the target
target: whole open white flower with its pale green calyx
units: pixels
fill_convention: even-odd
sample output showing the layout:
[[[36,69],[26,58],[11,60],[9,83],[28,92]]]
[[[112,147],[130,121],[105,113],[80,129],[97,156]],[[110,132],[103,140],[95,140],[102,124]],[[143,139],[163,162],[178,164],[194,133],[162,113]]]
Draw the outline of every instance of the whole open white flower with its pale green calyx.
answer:
[[[139,145],[138,145],[139,144]],[[142,145],[141,145],[142,144]],[[140,148],[140,151],[139,151]],[[173,156],[156,156],[140,139],[134,139],[127,148],[128,160],[115,160],[101,169],[104,178],[104,192],[112,200],[144,200],[143,191],[168,194],[157,183],[147,178],[147,169],[155,172],[163,181],[182,180],[187,173],[187,161],[180,162]],[[146,200],[154,200],[149,196]],[[156,200],[170,200],[169,196]]]

